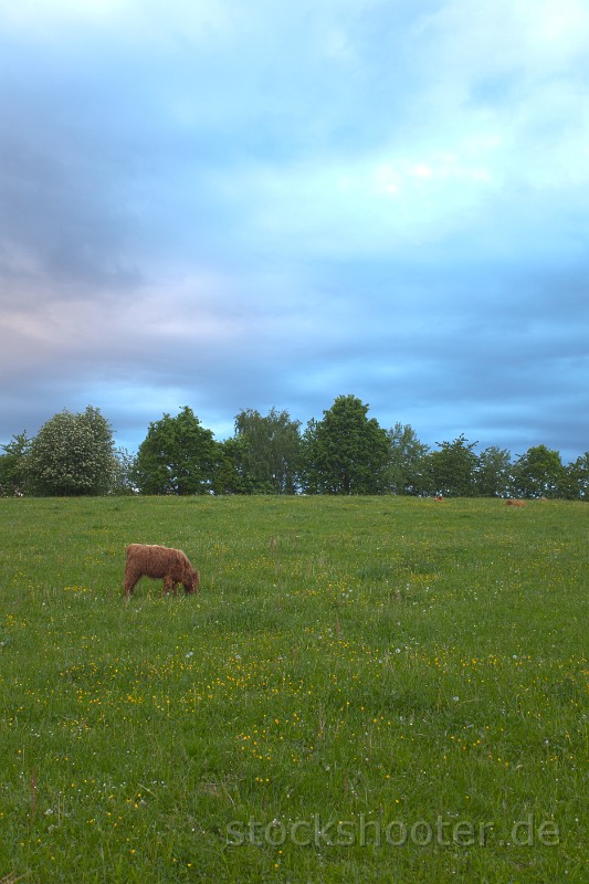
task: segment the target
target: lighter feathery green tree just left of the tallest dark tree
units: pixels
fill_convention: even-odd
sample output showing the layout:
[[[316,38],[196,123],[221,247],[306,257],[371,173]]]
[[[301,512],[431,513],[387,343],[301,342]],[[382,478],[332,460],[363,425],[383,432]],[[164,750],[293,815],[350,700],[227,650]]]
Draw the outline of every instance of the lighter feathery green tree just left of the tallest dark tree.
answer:
[[[272,408],[263,417],[240,411],[235,436],[243,442],[240,469],[244,483],[257,494],[294,494],[301,469],[301,422]]]

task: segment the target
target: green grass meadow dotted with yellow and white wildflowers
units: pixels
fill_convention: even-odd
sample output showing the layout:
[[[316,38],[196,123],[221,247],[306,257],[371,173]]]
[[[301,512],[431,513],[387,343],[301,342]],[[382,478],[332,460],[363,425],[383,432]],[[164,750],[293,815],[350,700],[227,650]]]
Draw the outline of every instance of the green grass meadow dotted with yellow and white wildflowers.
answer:
[[[0,882],[576,882],[589,506],[0,501]],[[161,543],[198,596],[122,594]]]

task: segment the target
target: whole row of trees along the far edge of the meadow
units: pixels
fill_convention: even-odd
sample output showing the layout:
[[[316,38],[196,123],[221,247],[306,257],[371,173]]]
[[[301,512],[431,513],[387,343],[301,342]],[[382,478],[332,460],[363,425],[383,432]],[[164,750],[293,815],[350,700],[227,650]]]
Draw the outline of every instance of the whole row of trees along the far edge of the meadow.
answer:
[[[137,453],[115,448],[98,409],[55,414],[0,454],[3,496],[104,494],[401,494],[589,499],[589,452],[564,464],[545,445],[515,460],[495,445],[476,452],[464,434],[420,442],[409,424],[381,428],[355,396],[338,396],[305,428],[287,411],[235,417],[217,441],[192,410],[149,424]]]

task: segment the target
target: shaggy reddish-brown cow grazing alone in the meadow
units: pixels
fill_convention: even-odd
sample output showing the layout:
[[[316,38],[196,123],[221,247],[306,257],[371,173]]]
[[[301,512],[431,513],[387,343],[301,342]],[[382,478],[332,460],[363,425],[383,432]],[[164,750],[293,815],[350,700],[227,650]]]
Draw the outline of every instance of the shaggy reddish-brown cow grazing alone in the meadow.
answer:
[[[132,594],[141,577],[164,579],[164,593],[171,589],[175,596],[178,594],[178,583],[183,586],[185,592],[193,593],[200,581],[199,572],[192,568],[181,549],[154,544],[130,544],[125,564],[125,596]]]

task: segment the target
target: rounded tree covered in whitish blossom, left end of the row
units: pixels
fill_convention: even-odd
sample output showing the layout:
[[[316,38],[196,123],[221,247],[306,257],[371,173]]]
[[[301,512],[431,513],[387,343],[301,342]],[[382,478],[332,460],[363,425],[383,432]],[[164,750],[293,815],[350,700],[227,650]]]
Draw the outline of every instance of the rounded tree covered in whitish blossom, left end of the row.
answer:
[[[106,494],[114,469],[109,423],[97,408],[80,414],[63,410],[31,443],[27,459],[33,493],[46,496]]]

